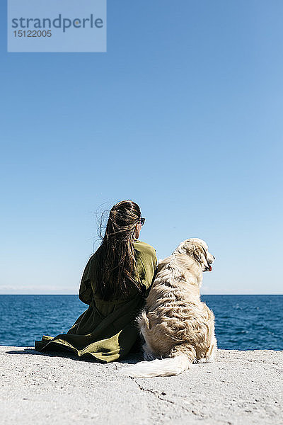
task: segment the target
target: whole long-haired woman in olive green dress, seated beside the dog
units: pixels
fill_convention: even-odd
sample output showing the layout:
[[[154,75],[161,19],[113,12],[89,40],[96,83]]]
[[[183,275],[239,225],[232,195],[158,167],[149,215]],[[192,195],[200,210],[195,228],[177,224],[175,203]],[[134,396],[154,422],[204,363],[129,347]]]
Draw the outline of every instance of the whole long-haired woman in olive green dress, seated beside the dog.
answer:
[[[138,240],[144,221],[132,200],[113,206],[100,247],[81,278],[79,299],[88,309],[67,334],[35,341],[35,350],[69,350],[107,363],[129,353],[138,338],[135,319],[157,266],[154,248]]]

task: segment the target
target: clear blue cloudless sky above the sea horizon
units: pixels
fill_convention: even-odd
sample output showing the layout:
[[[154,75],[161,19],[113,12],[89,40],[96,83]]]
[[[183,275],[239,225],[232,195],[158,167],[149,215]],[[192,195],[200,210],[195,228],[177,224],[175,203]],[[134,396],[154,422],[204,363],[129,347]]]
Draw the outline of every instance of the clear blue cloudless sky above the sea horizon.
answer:
[[[209,244],[202,293],[283,293],[282,1],[108,0],[86,54],[8,54],[4,3],[0,292],[77,293],[132,199],[158,258]]]

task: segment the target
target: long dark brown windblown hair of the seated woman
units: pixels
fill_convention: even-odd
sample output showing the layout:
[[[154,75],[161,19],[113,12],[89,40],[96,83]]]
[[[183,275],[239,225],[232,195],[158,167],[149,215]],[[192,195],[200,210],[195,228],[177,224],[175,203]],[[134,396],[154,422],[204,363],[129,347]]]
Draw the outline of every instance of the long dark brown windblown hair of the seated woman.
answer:
[[[134,237],[140,217],[139,205],[132,200],[122,200],[110,210],[105,234],[96,251],[98,262],[94,271],[96,293],[103,300],[127,297],[134,287],[141,290],[134,257]]]

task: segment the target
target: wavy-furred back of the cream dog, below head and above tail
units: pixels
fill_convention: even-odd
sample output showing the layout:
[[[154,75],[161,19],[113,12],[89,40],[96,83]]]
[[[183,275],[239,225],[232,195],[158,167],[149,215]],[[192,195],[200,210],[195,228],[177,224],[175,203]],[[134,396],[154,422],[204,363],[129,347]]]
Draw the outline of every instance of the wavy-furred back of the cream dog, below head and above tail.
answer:
[[[200,360],[214,335],[214,314],[200,301],[199,291],[180,276],[176,281],[166,265],[158,272],[137,323],[146,342],[146,360],[177,353]]]

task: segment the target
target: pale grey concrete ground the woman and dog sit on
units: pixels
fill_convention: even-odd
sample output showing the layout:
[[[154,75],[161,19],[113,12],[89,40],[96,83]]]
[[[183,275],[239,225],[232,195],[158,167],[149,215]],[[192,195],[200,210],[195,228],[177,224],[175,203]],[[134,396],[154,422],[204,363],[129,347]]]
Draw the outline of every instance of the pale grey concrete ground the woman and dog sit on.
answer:
[[[0,346],[1,424],[283,424],[283,351],[219,350],[168,378],[127,378],[71,354]]]

